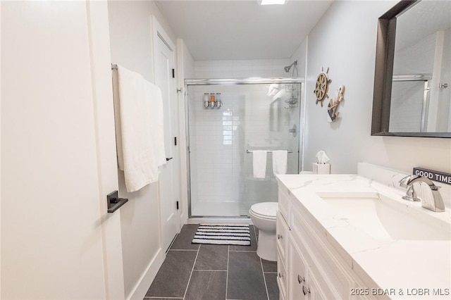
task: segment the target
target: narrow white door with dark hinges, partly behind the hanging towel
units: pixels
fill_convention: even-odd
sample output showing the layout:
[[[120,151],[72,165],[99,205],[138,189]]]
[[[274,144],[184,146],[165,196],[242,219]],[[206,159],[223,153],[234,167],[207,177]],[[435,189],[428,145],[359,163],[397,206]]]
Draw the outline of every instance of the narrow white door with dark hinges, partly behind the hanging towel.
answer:
[[[166,251],[178,232],[177,205],[175,199],[175,155],[174,149],[174,46],[166,37],[154,18],[154,63],[155,84],[160,87],[163,95],[164,139],[166,164],[161,167],[159,177],[161,248]],[[165,38],[166,37],[166,38]]]

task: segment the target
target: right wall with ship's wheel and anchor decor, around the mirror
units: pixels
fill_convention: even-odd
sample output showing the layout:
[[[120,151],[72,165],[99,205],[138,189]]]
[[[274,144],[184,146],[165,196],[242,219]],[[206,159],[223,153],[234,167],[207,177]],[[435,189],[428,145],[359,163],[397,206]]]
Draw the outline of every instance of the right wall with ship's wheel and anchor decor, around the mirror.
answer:
[[[397,1],[335,1],[309,34],[304,170],[325,150],[332,173],[356,173],[359,161],[412,172],[419,166],[451,171],[451,140],[371,137],[377,19]],[[313,90],[321,67],[329,67],[329,96],[345,85],[340,118],[326,122],[326,106]]]

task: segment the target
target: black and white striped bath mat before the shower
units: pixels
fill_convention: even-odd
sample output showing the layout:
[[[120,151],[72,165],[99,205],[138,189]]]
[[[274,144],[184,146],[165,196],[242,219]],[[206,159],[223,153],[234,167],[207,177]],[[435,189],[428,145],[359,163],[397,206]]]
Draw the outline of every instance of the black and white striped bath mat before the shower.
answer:
[[[201,224],[197,228],[192,244],[242,245],[250,246],[249,225]]]

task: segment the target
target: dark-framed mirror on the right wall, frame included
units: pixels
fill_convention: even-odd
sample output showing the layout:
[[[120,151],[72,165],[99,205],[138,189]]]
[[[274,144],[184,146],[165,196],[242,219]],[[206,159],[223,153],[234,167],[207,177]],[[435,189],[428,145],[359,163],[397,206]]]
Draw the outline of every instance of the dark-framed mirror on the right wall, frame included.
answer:
[[[400,1],[378,19],[371,135],[451,137],[451,1]]]

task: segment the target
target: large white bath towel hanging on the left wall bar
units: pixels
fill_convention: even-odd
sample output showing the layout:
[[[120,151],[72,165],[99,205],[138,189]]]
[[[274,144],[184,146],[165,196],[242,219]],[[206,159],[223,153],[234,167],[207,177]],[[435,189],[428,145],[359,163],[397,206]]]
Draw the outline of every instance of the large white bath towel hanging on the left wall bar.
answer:
[[[127,192],[135,192],[156,182],[159,165],[166,163],[163,100],[159,87],[121,65],[116,83],[118,165],[124,171]]]

